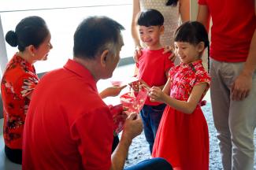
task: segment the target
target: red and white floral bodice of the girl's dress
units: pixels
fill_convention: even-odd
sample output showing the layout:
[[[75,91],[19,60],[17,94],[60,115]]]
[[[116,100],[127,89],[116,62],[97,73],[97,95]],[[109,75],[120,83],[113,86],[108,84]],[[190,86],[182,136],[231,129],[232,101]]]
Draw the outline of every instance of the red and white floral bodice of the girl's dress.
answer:
[[[171,79],[170,96],[181,101],[187,101],[193,87],[198,83],[208,83],[202,98],[210,87],[210,76],[203,68],[202,60],[190,64],[181,63],[171,68],[169,78]]]

